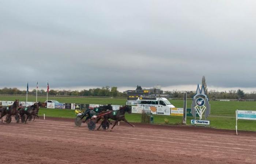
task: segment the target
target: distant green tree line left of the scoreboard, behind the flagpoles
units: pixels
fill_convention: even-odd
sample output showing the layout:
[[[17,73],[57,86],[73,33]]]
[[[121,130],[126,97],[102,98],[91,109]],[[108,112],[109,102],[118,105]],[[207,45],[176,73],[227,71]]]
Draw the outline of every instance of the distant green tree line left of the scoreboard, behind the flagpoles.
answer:
[[[0,89],[0,94],[27,94],[26,90],[19,90],[17,88],[3,88]],[[33,89],[29,91],[28,94],[35,95],[36,90]],[[46,95],[46,91],[41,89],[37,90],[38,95]],[[49,90],[48,95],[67,95],[67,96],[98,96],[98,97],[127,97],[126,93],[119,92],[117,87],[105,86],[102,88],[95,89],[84,89],[81,91],[78,90]]]

